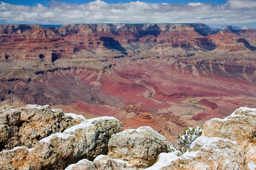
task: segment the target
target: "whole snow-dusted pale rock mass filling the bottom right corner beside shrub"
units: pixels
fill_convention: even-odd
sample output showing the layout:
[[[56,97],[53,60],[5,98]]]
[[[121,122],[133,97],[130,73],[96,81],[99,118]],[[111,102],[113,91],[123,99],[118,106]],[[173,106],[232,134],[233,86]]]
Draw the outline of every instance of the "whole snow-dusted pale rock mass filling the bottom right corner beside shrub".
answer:
[[[204,124],[202,136],[182,156],[160,154],[147,170],[254,170],[256,109],[239,108],[225,119]]]

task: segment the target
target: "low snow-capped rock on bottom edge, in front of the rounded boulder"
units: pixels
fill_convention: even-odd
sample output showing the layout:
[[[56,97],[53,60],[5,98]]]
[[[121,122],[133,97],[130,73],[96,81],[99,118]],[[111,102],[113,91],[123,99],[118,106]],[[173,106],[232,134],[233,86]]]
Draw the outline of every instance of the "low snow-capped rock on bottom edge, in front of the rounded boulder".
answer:
[[[71,164],[65,170],[138,170],[132,164],[120,159],[113,159],[105,155],[97,156],[93,162],[82,159],[76,164]]]

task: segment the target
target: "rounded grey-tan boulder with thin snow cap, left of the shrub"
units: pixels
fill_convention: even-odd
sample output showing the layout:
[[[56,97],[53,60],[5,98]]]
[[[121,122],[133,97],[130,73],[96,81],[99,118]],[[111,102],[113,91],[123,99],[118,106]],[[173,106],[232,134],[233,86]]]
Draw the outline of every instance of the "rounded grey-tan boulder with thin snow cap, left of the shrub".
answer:
[[[127,161],[138,168],[151,166],[167,151],[166,139],[151,127],[124,130],[108,142],[108,156]]]

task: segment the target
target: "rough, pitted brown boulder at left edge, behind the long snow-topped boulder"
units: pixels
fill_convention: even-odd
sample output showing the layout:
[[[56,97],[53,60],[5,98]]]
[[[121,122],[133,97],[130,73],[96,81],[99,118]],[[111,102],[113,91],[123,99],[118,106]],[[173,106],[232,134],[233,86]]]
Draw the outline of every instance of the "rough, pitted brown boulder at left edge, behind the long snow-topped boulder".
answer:
[[[39,140],[83,121],[65,116],[60,110],[52,111],[49,105],[17,109],[4,105],[0,110],[0,151],[17,146],[34,147]]]

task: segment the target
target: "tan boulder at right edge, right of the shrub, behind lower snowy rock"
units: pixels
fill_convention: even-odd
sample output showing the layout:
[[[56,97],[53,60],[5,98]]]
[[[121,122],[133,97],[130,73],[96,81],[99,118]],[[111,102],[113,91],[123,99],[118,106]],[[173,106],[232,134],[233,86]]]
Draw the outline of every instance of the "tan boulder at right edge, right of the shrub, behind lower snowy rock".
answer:
[[[256,109],[240,108],[225,119],[212,119],[204,124],[202,135],[236,141],[245,150],[246,161],[256,162]]]

